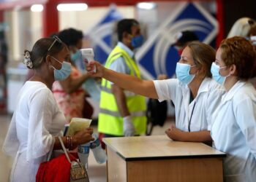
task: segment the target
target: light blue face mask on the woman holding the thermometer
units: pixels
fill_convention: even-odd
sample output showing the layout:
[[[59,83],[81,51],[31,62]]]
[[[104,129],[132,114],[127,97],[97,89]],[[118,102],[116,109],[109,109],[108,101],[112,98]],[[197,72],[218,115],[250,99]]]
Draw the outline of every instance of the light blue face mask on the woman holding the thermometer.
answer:
[[[195,74],[189,74],[190,68],[195,67],[189,64],[177,63],[176,65],[176,76],[178,81],[184,84],[189,84],[195,78]]]

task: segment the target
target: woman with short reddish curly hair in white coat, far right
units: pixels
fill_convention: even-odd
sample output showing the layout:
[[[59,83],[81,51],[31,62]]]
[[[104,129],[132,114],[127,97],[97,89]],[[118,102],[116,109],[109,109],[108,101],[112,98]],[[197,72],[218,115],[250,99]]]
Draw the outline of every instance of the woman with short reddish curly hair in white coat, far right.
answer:
[[[255,50],[242,37],[225,39],[219,46],[211,73],[226,93],[213,114],[211,137],[224,151],[225,181],[256,181],[256,91],[252,76]]]

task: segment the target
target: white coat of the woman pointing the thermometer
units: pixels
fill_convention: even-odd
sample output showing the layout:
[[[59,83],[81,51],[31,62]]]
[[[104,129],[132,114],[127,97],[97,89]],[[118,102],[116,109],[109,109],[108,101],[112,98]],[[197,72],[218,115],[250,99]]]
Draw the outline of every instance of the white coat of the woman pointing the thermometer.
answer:
[[[204,79],[192,103],[189,103],[189,87],[178,79],[155,80],[154,86],[159,101],[173,100],[178,129],[188,131],[191,118],[190,131],[211,130],[211,114],[225,93],[223,87],[217,82],[209,78]]]

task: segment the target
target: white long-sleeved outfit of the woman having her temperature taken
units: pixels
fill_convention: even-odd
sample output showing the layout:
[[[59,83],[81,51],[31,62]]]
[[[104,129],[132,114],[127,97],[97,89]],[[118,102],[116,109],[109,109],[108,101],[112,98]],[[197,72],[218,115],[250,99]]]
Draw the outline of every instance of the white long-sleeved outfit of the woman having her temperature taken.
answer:
[[[10,181],[34,182],[38,167],[62,135],[66,122],[53,93],[42,82],[26,82],[18,95],[3,150],[15,157]]]

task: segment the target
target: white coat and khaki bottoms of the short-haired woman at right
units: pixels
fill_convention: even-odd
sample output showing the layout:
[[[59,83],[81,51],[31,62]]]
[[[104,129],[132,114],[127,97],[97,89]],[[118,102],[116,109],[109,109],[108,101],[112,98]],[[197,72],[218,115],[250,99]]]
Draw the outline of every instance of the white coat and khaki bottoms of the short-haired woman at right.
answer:
[[[224,159],[225,181],[256,181],[256,91],[238,81],[213,114],[211,137]]]

